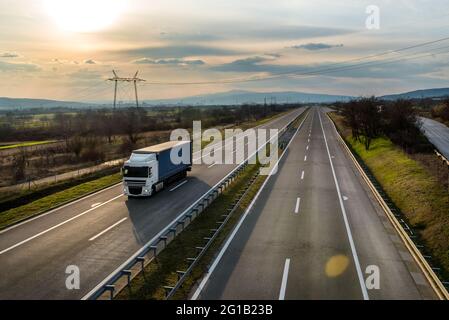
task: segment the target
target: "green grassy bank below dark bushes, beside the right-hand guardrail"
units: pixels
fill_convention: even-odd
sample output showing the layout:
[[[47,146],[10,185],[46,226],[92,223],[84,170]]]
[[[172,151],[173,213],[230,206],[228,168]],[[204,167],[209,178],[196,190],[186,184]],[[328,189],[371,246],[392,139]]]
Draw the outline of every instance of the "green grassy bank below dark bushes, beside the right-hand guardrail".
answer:
[[[341,117],[332,115],[352,149],[369,167],[376,180],[419,230],[420,238],[434,259],[449,275],[449,193],[418,161],[385,137],[374,139],[370,150],[355,141],[342,124]]]

